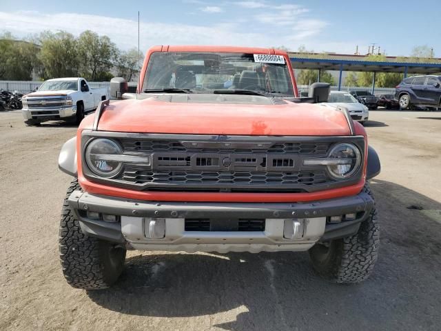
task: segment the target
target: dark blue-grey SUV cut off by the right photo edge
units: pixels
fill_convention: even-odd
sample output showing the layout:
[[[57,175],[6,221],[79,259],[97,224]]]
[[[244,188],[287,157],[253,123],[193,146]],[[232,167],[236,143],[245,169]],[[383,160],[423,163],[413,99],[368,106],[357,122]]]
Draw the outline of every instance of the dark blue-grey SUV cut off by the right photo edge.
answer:
[[[396,87],[395,99],[400,103],[400,109],[413,105],[441,107],[441,76],[404,78]]]

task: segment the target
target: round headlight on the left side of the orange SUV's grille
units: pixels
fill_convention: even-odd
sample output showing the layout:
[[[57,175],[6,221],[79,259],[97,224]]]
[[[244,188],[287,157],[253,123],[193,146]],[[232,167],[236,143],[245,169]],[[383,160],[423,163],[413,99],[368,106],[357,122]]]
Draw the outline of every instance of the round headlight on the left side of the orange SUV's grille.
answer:
[[[112,177],[121,170],[123,154],[119,145],[110,139],[98,138],[85,148],[85,161],[89,169],[101,177]]]

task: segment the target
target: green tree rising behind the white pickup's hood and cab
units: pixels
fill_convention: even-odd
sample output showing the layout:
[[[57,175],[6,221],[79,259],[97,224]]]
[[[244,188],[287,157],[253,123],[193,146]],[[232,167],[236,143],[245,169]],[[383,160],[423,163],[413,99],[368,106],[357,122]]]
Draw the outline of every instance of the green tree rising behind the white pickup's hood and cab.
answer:
[[[39,37],[41,51],[39,59],[43,66],[43,79],[59,77],[76,77],[79,73],[80,61],[78,41],[65,31],[42,32]]]

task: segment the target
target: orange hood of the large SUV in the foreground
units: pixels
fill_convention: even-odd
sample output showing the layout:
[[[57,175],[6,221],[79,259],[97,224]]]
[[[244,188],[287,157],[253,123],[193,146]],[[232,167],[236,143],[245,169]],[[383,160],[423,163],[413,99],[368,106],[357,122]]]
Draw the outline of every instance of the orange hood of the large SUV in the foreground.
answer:
[[[349,135],[342,112],[311,103],[258,96],[179,94],[110,103],[98,130],[170,134]],[[232,98],[234,97],[234,98]],[[242,97],[247,102],[234,100]]]

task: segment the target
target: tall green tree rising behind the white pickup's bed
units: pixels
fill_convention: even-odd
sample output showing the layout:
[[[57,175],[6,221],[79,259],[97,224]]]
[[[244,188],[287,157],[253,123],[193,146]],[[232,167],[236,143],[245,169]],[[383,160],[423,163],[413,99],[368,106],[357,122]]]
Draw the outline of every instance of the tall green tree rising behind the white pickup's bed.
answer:
[[[117,53],[114,43],[107,36],[99,36],[86,30],[78,39],[81,76],[96,81],[110,72]]]

